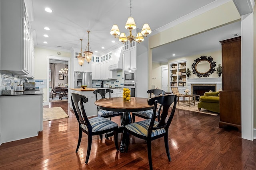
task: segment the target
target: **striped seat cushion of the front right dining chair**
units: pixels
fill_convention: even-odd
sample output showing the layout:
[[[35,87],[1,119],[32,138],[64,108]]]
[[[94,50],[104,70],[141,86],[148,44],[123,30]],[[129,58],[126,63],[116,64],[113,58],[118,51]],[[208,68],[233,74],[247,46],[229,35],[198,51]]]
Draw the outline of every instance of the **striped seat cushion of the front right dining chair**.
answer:
[[[151,119],[147,119],[144,121],[138,121],[135,123],[131,123],[125,126],[126,129],[128,129],[129,131],[132,131],[134,133],[137,133],[139,135],[143,135],[145,137],[148,136],[148,127],[150,125],[150,121]],[[158,125],[158,122],[155,121],[154,123],[154,127],[156,127]],[[156,135],[160,135],[162,133],[165,133],[165,129],[156,129],[152,131],[151,137],[154,137]]]

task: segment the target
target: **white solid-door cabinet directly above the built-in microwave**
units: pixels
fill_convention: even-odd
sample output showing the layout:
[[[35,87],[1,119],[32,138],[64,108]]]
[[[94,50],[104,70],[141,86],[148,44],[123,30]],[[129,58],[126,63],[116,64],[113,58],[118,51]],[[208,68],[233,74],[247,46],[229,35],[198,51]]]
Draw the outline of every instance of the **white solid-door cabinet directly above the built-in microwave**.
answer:
[[[124,70],[136,68],[136,48],[124,51]]]

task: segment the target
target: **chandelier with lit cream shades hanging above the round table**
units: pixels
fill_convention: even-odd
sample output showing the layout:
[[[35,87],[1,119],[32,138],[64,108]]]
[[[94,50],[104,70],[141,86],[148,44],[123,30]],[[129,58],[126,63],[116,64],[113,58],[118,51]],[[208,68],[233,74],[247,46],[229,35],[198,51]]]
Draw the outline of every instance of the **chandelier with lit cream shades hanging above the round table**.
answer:
[[[144,41],[143,37],[146,37],[147,35],[149,35],[151,33],[151,29],[149,27],[149,25],[147,23],[144,23],[141,32],[137,33],[136,37],[134,37],[132,35],[132,29],[136,29],[136,24],[134,19],[132,18],[132,0],[130,0],[130,17],[128,18],[126,24],[125,24],[125,28],[129,30],[130,35],[128,35],[126,37],[125,33],[121,33],[120,35],[120,31],[119,28],[116,24],[114,24],[112,26],[112,29],[110,31],[111,35],[114,35],[115,38],[119,38],[119,41],[124,43],[127,40],[130,41],[130,43],[132,43],[132,41],[136,41],[138,43]],[[120,35],[120,36],[118,36]]]

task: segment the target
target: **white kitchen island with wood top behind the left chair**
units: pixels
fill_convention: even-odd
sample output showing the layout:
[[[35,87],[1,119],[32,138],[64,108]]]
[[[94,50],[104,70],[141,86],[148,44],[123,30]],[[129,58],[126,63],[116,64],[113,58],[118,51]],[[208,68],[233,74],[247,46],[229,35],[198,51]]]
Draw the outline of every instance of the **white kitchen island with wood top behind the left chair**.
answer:
[[[95,94],[93,94],[94,90],[96,90],[96,88],[85,88],[85,89],[83,89],[83,88],[70,88],[69,89],[69,92],[70,92],[69,96],[71,96],[71,93],[76,93],[76,94],[82,94],[82,95],[84,95],[88,98],[88,102],[84,104],[86,115],[88,117],[98,115],[97,106],[94,104],[94,102],[96,101]],[[70,98],[69,105],[70,105],[71,108],[73,108],[71,98]]]

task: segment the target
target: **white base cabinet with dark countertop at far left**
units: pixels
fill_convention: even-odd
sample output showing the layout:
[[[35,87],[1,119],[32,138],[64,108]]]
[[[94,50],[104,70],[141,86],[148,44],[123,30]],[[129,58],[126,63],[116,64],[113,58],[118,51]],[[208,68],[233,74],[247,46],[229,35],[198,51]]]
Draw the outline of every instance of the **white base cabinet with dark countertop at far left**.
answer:
[[[43,130],[43,91],[0,95],[0,144],[38,136]]]

